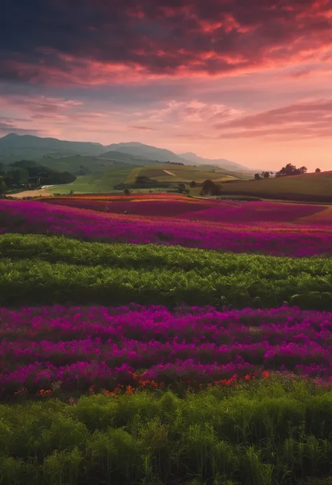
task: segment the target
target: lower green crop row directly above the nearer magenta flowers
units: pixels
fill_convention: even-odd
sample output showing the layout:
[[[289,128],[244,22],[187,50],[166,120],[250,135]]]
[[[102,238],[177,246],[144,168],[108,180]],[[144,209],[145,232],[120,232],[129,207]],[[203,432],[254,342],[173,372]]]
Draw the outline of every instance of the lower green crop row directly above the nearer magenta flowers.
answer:
[[[251,265],[245,272],[220,274],[209,268],[123,268],[69,265],[41,260],[0,261],[0,304],[233,304],[279,307],[284,301],[303,309],[332,309],[331,273],[291,274]],[[19,300],[18,300],[19,295]]]

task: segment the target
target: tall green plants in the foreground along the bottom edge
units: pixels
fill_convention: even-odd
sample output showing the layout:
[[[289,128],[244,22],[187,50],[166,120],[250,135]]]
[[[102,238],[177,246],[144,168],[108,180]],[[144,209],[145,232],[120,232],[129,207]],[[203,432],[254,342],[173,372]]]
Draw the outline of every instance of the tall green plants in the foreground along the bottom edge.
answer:
[[[286,377],[0,405],[0,484],[324,484],[331,409],[332,391]]]

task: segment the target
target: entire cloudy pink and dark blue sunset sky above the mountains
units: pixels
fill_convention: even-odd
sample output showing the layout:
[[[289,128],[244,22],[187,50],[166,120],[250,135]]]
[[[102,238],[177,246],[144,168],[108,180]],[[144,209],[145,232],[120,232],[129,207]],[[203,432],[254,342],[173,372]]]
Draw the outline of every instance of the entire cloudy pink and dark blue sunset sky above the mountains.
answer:
[[[332,0],[2,0],[12,132],[332,170]]]

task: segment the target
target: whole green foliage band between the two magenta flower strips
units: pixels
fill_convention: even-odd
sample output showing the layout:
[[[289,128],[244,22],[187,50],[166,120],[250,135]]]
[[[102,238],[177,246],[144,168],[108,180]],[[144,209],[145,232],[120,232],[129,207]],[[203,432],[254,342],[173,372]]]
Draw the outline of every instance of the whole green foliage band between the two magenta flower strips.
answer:
[[[275,258],[181,246],[0,237],[3,305],[233,304],[332,309],[332,258]]]

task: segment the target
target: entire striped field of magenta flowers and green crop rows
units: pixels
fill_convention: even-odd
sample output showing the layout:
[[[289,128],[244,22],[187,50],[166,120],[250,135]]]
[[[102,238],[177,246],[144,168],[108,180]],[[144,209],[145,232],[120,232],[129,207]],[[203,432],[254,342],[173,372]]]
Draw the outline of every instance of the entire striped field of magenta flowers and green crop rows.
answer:
[[[1,485],[331,485],[331,360],[331,206],[0,199]]]

